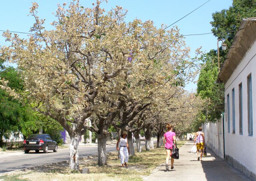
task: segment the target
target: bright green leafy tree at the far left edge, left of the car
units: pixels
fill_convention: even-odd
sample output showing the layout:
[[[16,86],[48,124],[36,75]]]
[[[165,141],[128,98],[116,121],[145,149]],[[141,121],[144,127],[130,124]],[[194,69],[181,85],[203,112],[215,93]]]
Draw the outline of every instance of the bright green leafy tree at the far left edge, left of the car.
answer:
[[[0,77],[8,80],[8,86],[16,92],[23,89],[22,79],[18,71],[13,67],[6,67],[0,60]],[[13,132],[23,132],[24,136],[31,134],[37,129],[36,119],[32,109],[9,96],[0,89],[0,145],[3,144],[3,137],[9,138]]]

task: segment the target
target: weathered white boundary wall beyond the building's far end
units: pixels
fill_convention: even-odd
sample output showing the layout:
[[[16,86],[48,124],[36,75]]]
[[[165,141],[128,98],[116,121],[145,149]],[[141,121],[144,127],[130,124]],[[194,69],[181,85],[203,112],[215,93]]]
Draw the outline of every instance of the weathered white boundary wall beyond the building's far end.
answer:
[[[222,116],[217,123],[203,124],[206,147],[210,148],[220,158],[224,158]]]

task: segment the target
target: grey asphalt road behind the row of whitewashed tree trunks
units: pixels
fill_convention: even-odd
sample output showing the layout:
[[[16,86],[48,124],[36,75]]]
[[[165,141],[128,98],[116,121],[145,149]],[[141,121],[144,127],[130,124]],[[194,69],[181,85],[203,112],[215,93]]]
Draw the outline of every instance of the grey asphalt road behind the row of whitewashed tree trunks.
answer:
[[[145,142],[141,142],[145,145]],[[136,143],[134,144],[136,148]],[[107,145],[107,152],[116,150],[115,145]],[[79,157],[86,157],[97,154],[96,146],[79,146]],[[43,152],[35,153],[30,151],[29,154],[24,152],[6,153],[0,155],[0,173],[13,170],[34,167],[47,163],[56,163],[68,160],[69,148],[58,149],[58,152],[49,151],[47,154]]]

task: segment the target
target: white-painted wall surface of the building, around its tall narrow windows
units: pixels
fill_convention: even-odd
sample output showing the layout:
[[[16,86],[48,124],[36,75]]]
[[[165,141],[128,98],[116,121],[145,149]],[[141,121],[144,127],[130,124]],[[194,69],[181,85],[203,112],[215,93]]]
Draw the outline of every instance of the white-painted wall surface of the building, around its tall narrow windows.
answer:
[[[252,77],[253,136],[248,136],[247,76]],[[239,93],[242,82],[243,134],[239,134]],[[232,133],[232,89],[235,89],[235,133]],[[230,133],[227,121],[227,94],[230,100]],[[247,52],[232,76],[225,84],[225,154],[256,174],[256,43]]]

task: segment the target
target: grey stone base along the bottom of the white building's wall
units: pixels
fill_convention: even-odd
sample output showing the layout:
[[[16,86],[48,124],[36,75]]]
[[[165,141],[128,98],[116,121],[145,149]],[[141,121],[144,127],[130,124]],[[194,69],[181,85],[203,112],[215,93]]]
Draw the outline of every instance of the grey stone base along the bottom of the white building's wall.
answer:
[[[242,165],[239,161],[234,159],[233,157],[225,154],[225,161],[232,165],[235,169],[242,172],[244,175],[246,175],[251,180],[256,180],[256,173],[248,170],[244,165]]]

